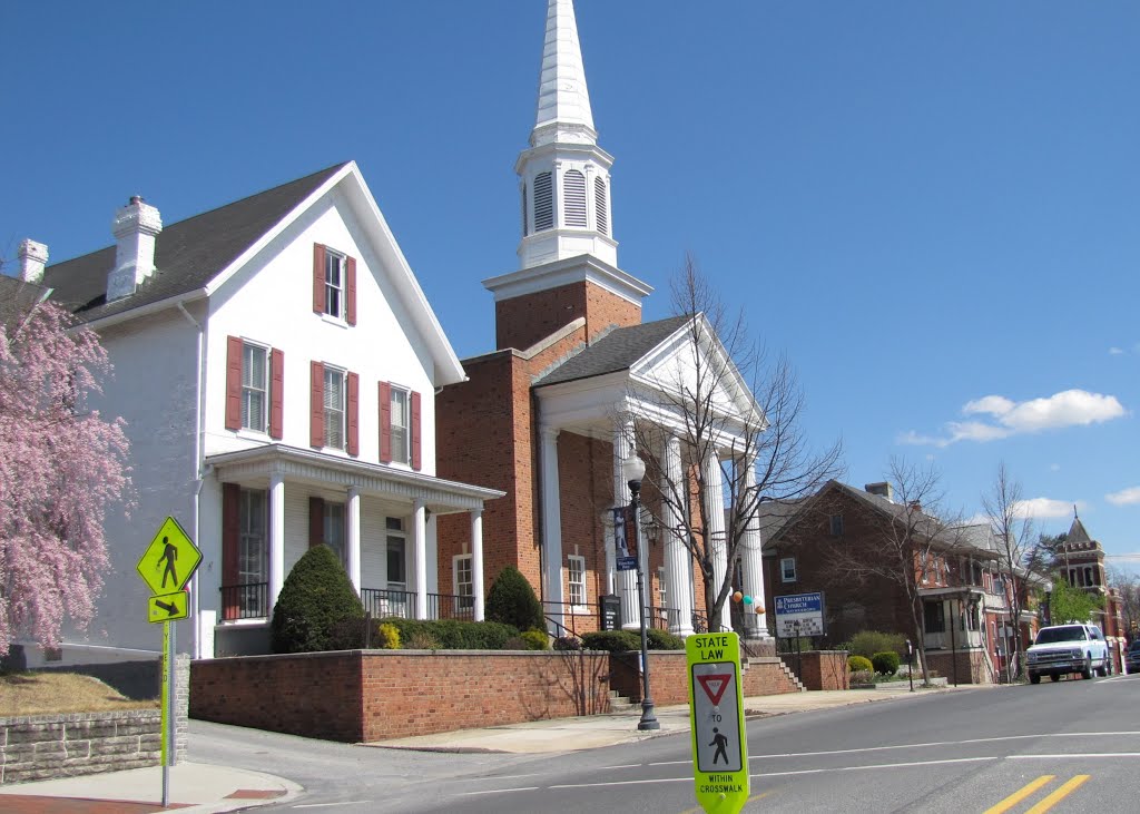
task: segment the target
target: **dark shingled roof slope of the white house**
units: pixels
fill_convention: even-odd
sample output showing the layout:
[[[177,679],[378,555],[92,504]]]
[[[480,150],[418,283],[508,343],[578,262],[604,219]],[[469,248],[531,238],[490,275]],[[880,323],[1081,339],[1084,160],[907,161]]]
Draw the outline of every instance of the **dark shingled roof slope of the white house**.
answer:
[[[130,296],[106,301],[114,245],[49,266],[43,284],[55,288],[52,300],[82,321],[198,291],[348,163],[164,226],[155,238],[155,272]]]

